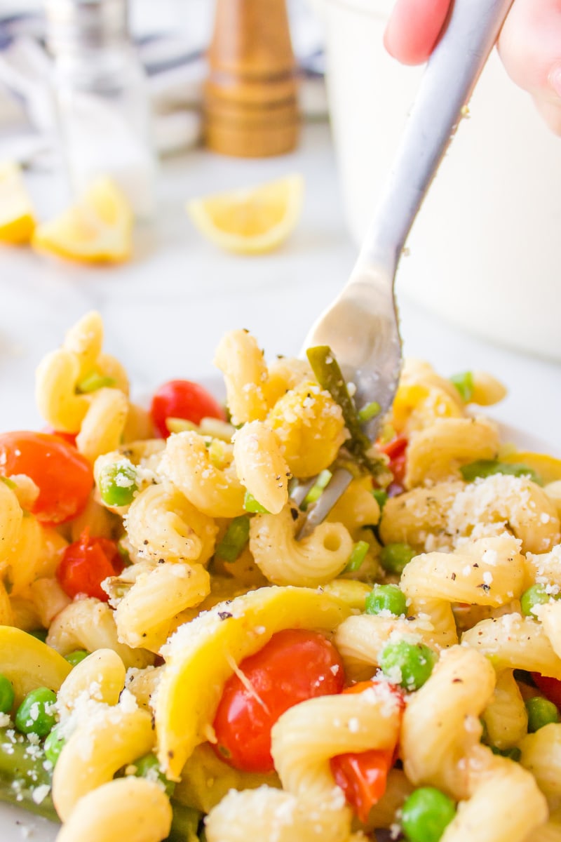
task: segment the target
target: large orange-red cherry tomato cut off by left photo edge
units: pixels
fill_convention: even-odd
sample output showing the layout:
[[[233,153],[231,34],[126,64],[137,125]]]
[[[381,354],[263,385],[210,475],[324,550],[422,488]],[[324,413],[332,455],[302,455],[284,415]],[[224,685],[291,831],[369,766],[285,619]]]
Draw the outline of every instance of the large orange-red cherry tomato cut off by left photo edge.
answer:
[[[93,486],[92,466],[57,435],[0,434],[0,474],[26,474],[39,488],[31,509],[45,524],[61,524],[80,514]]]

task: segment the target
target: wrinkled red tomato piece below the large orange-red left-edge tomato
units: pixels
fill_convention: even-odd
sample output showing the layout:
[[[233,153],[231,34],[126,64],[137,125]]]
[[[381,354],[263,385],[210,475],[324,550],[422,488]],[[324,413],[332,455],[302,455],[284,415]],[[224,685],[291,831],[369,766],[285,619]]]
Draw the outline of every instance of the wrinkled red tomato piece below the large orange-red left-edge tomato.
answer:
[[[77,594],[87,594],[107,602],[108,594],[101,583],[108,576],[118,576],[122,570],[123,561],[115,542],[108,538],[90,538],[86,527],[79,540],[66,547],[56,578],[72,599]]]

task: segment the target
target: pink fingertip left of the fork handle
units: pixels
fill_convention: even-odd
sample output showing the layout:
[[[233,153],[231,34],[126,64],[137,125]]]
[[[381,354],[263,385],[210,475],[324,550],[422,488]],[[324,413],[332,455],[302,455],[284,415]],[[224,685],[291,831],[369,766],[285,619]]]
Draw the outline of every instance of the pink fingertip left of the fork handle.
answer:
[[[397,0],[384,34],[390,56],[422,64],[431,55],[451,0]]]

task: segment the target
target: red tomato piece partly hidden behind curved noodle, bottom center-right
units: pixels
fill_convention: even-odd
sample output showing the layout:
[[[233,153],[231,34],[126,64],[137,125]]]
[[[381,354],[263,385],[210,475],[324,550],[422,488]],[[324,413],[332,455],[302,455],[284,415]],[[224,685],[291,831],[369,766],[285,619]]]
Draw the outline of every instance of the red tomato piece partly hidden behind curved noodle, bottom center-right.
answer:
[[[362,693],[375,684],[375,681],[361,681],[347,687],[343,693]],[[403,710],[403,693],[394,685],[392,695]],[[397,759],[397,746],[392,749],[371,749],[370,751],[337,754],[330,760],[331,773],[337,786],[345,793],[347,803],[351,805],[361,822],[368,820],[368,813],[386,791],[389,770]]]

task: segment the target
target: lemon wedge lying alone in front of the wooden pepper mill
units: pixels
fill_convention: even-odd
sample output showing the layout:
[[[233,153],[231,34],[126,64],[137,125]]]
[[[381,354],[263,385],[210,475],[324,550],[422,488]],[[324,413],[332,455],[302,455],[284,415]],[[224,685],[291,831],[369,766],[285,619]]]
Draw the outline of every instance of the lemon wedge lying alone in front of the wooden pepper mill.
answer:
[[[286,240],[302,210],[304,179],[284,179],[188,203],[198,230],[217,246],[238,254],[263,254]]]

